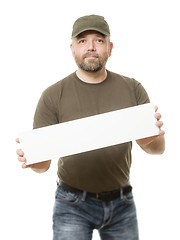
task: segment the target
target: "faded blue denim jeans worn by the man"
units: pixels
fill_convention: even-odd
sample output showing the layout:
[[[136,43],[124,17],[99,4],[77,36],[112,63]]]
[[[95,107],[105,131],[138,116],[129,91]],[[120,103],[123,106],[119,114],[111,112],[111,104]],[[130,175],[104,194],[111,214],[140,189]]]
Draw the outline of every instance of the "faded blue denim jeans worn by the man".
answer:
[[[58,186],[55,197],[53,240],[91,240],[94,229],[103,240],[139,239],[132,192],[100,202]]]

